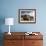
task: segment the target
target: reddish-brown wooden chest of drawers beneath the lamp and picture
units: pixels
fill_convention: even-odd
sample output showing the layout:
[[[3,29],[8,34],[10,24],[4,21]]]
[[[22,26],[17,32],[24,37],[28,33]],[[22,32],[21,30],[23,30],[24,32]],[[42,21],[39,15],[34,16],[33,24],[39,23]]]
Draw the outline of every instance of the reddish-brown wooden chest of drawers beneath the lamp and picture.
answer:
[[[4,33],[4,46],[43,46],[43,35],[25,35],[26,32],[11,32],[8,35]],[[34,33],[34,32],[33,32]]]

